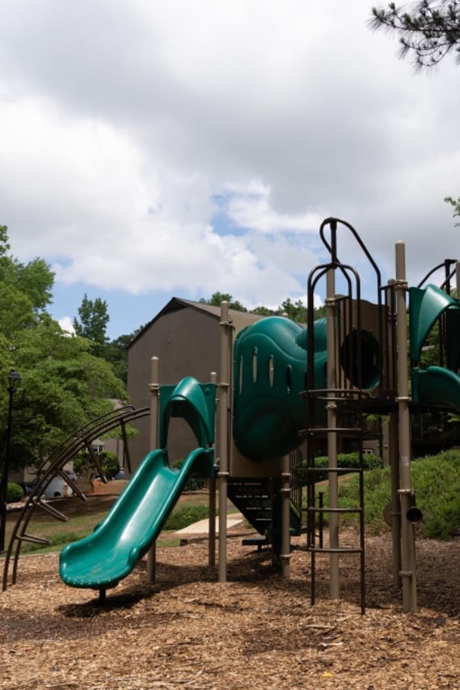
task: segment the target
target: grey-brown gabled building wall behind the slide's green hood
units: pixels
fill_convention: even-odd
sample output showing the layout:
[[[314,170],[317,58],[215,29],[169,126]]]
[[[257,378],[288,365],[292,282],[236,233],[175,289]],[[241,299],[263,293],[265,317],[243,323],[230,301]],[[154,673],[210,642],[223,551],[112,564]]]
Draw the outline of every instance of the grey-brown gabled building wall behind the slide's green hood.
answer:
[[[210,372],[219,375],[220,328],[219,318],[197,309],[184,307],[167,312],[156,319],[150,328],[128,350],[128,394],[134,407],[150,405],[150,359],[159,357],[160,384],[174,384],[184,376],[194,376],[208,382]],[[150,417],[137,420],[137,439],[130,442],[133,469],[150,451]],[[188,425],[172,420],[168,438],[170,460],[174,462],[196,445]]]

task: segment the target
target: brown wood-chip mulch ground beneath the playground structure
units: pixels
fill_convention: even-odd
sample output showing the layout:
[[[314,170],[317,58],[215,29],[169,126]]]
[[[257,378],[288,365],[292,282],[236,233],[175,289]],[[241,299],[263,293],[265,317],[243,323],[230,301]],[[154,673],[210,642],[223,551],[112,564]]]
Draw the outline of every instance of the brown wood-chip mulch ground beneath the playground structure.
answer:
[[[228,539],[228,582],[206,565],[206,539],[157,549],[106,607],[60,580],[57,555],[21,559],[0,595],[0,687],[15,689],[460,688],[460,543],[418,544],[419,613],[401,613],[388,535],[367,540],[367,602],[359,613],[355,557],[343,558],[342,600],[328,600],[319,560],[310,607],[310,559],[294,539],[291,578],[268,549]]]

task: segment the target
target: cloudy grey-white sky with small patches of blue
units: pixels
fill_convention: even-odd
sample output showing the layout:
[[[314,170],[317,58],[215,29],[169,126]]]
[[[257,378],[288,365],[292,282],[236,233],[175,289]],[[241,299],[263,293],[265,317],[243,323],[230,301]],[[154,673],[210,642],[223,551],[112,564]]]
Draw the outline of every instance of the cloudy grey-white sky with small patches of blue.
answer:
[[[460,67],[416,74],[371,6],[2,0],[0,222],[54,317],[102,297],[117,337],[172,295],[303,298],[330,215],[384,279],[399,239],[414,283],[458,257]]]

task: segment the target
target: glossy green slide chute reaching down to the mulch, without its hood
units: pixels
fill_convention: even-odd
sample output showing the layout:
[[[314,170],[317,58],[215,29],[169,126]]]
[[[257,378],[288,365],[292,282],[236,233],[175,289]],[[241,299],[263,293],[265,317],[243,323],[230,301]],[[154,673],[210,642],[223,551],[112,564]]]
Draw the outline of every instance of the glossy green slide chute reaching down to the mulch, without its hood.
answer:
[[[148,453],[103,522],[63,548],[62,580],[73,587],[107,589],[126,578],[157,539],[190,474],[209,476],[213,460],[212,449],[198,448],[173,470],[166,449]]]

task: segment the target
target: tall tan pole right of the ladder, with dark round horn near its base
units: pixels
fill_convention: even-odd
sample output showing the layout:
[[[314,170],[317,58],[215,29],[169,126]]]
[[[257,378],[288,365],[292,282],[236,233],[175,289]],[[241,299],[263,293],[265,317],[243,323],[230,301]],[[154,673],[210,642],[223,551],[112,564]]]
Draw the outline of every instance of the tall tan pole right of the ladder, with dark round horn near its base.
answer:
[[[408,333],[406,322],[406,248],[396,243],[396,306],[398,346],[398,419],[399,419],[399,495],[401,500],[401,579],[403,610],[417,612],[417,577],[414,526],[407,519],[412,488],[410,485],[410,411]]]

